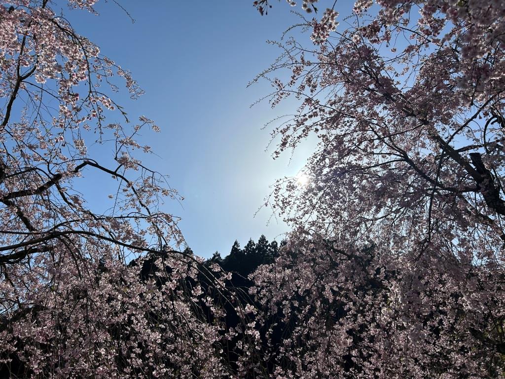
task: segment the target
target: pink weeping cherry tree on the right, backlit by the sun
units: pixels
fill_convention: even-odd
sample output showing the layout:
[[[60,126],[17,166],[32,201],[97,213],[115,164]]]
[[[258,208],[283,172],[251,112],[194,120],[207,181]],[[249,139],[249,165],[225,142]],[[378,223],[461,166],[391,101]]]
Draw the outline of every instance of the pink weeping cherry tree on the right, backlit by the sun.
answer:
[[[357,1],[314,46],[292,29],[257,78],[275,83],[272,106],[299,100],[274,156],[319,140],[311,180],[280,179],[266,200],[300,252],[254,274],[295,334],[272,341],[278,377],[503,374],[503,9]]]

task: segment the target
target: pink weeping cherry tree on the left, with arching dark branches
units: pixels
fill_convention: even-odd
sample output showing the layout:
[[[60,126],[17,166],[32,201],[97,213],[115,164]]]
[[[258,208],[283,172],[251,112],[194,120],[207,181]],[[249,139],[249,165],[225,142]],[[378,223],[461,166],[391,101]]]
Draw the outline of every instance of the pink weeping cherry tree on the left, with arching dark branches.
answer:
[[[184,240],[161,207],[180,197],[136,140],[160,128],[112,96],[121,81],[134,99],[142,90],[51,6],[0,5],[0,376],[230,377],[232,335],[209,296],[230,276],[170,248]],[[80,184],[107,178],[113,194]],[[233,332],[242,351],[246,332]]]

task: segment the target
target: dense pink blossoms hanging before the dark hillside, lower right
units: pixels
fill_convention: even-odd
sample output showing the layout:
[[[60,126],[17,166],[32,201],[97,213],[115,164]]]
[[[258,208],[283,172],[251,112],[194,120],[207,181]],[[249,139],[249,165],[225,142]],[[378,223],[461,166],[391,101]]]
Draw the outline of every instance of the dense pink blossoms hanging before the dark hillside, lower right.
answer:
[[[252,274],[266,335],[283,336],[268,340],[270,377],[503,375],[498,279],[433,253],[416,260],[294,235]]]

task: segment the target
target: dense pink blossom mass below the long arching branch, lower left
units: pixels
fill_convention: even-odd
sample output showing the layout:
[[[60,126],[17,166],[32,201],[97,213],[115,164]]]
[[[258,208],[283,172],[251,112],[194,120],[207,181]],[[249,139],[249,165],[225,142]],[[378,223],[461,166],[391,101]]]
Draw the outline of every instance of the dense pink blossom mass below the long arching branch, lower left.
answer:
[[[156,275],[141,277],[138,265],[144,261],[125,266],[117,257],[104,256],[111,251],[105,244],[81,248],[90,258],[78,267],[66,264],[66,248],[56,246],[58,261],[38,256],[36,270],[10,273],[10,285],[2,283],[2,292],[12,294],[3,299],[4,306],[19,302],[11,286],[30,285],[21,304],[23,317],[0,329],[2,353],[8,354],[2,363],[13,374],[228,377],[219,357],[220,327],[191,307],[206,296],[186,288],[198,272],[191,257],[151,259]]]

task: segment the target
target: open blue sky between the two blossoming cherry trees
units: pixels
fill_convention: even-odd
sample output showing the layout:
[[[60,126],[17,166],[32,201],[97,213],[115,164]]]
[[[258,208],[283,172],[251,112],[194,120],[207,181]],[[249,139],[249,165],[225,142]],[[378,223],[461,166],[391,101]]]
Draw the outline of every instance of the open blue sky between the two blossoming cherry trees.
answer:
[[[135,102],[125,90],[116,99],[131,119],[145,115],[162,128],[143,136],[158,154],[145,161],[170,175],[170,185],[185,198],[164,210],[182,217],[185,239],[200,256],[225,255],[235,239],[244,244],[261,234],[280,241],[288,227],[275,218],[267,226],[270,209],[255,212],[276,178],[300,170],[311,144],[291,161],[289,153],[274,161],[273,148],[265,152],[270,130],[261,128],[295,105],[249,108],[271,87],[246,85],[280,53],[265,41],[279,39],[297,16],[285,2],[274,2],[263,17],[251,0],[120,4],[135,23],[113,1],[97,4],[99,16],[63,11],[78,33],[130,70],[145,90]]]

